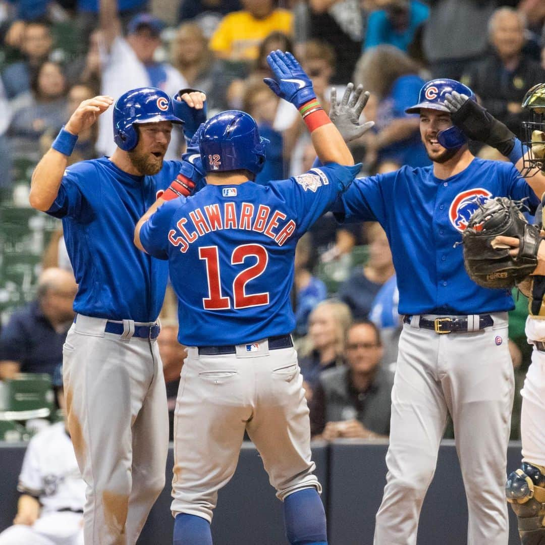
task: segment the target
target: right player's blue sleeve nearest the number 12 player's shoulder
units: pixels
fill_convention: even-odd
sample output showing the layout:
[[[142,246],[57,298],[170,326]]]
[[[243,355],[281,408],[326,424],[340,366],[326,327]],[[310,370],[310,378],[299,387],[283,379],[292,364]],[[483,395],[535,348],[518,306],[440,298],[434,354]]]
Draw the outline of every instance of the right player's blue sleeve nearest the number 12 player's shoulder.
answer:
[[[395,172],[369,178],[356,178],[354,183],[337,199],[331,211],[340,222],[379,221],[385,225],[389,195]]]

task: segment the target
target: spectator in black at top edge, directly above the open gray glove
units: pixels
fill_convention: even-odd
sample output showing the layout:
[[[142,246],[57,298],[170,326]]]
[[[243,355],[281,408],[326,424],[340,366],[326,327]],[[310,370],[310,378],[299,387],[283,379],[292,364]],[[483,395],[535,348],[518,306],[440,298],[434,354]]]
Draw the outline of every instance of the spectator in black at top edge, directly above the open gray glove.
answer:
[[[332,80],[350,81],[361,52],[360,0],[309,0],[308,8],[308,38],[326,41],[334,49],[337,63]]]

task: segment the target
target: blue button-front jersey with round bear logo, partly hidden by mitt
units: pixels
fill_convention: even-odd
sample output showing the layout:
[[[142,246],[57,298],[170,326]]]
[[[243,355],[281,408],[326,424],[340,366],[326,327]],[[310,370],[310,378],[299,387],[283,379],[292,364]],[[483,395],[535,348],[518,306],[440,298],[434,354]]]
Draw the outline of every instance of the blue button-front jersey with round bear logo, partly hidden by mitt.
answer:
[[[510,290],[473,282],[464,268],[462,233],[479,204],[493,197],[539,199],[507,162],[475,158],[445,180],[433,167],[402,167],[358,178],[334,205],[340,221],[378,221],[397,273],[400,314],[479,314],[514,307]]]

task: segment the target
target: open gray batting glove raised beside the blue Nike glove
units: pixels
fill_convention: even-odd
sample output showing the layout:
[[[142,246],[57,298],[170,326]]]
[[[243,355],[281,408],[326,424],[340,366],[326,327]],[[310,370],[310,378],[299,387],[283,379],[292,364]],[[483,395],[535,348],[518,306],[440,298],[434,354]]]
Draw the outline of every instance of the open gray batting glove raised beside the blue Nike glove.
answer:
[[[331,89],[331,110],[329,118],[341,133],[345,142],[352,142],[364,135],[374,125],[374,121],[368,121],[363,125],[359,124],[361,112],[364,110],[369,92],[363,92],[364,86],[356,87],[354,93],[354,84],[349,83],[344,92],[340,104],[337,104],[337,89]],[[350,96],[352,95],[352,96]]]

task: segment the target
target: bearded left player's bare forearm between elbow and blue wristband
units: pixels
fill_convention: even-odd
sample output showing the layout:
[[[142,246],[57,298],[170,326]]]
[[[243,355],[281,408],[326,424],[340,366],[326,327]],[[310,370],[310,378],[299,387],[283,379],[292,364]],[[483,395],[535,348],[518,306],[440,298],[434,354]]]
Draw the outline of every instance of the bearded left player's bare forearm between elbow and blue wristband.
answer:
[[[46,211],[51,208],[59,192],[60,182],[68,166],[68,156],[52,148],[41,158],[32,173],[28,201],[32,208]]]

